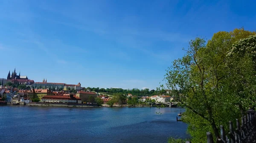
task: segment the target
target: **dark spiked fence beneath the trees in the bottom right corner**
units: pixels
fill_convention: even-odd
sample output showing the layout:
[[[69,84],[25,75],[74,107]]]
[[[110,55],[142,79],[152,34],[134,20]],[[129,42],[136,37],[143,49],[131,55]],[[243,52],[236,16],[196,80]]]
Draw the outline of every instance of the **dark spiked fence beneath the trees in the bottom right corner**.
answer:
[[[253,109],[247,111],[247,116],[236,119],[236,129],[233,123],[229,121],[229,132],[224,131],[224,127],[220,126],[221,138],[216,143],[256,143],[256,112]],[[186,141],[186,143],[191,143]],[[207,132],[207,143],[214,143],[212,133]]]

